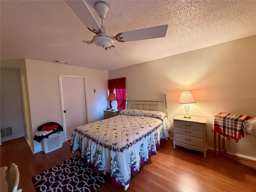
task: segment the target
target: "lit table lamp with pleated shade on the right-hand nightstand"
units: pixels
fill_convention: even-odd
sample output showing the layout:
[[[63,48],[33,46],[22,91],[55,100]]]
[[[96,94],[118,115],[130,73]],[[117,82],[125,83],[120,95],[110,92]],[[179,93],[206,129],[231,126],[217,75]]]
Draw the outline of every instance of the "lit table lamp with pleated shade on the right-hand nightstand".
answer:
[[[191,118],[190,115],[188,114],[190,111],[189,103],[196,103],[196,99],[194,98],[192,91],[191,90],[181,91],[178,103],[185,104],[184,109],[186,111],[186,115],[184,116],[184,118]]]

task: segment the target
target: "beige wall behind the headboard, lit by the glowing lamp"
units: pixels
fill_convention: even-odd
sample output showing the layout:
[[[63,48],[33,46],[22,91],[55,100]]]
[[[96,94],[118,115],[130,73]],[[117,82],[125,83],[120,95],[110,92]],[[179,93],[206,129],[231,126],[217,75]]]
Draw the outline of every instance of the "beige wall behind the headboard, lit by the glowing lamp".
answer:
[[[208,146],[213,147],[215,113],[256,116],[256,98],[246,97],[256,95],[256,36],[109,71],[109,79],[120,77],[126,77],[130,100],[163,100],[168,94],[172,124],[176,114],[184,114],[180,91],[192,90],[197,102],[190,104],[190,115],[208,118]],[[246,136],[238,143],[230,140],[226,149],[256,158],[255,143],[256,137]]]

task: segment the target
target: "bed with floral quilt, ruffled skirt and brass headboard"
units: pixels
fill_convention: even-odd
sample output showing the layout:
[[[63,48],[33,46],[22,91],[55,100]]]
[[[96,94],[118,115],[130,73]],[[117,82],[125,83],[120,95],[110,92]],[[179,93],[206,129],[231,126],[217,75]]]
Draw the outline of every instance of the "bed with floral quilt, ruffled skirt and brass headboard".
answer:
[[[131,175],[164,140],[169,138],[170,122],[167,119],[167,100],[165,112],[158,111],[158,102],[140,104],[131,101],[132,108],[121,110],[119,115],[82,125],[72,134],[70,149],[80,151],[82,158],[97,172],[110,173],[112,182],[117,186],[129,187]],[[146,102],[146,101],[142,101]],[[154,101],[149,101],[150,103]],[[162,101],[161,101],[162,102]],[[149,110],[145,110],[145,106]],[[157,110],[151,110],[156,106]]]

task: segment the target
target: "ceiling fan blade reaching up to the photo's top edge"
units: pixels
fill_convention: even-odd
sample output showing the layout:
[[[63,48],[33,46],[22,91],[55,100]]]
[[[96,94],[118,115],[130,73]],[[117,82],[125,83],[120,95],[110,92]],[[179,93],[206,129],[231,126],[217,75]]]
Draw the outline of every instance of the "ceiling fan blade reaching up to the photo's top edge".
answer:
[[[96,34],[102,32],[84,0],[65,0],[65,2],[90,31]]]

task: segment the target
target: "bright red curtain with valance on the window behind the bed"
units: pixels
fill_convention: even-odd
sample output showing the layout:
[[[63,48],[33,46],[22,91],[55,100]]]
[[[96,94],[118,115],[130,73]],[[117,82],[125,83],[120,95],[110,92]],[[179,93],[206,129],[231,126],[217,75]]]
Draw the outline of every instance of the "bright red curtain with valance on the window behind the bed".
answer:
[[[108,89],[113,93],[116,89],[117,109],[122,110],[126,108],[126,78],[118,78],[108,80]]]

